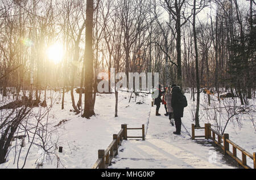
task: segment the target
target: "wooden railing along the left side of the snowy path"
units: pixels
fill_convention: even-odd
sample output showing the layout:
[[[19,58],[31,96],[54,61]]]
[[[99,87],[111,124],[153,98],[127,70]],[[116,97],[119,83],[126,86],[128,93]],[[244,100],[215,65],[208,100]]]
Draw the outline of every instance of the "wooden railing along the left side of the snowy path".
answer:
[[[142,136],[127,136],[127,130],[142,130]],[[118,134],[113,134],[113,141],[109,147],[106,150],[98,150],[98,159],[92,169],[107,169],[113,157],[118,155],[118,148],[122,141],[127,140],[127,138],[142,138],[142,140],[145,140],[144,125],[142,125],[142,128],[127,128],[127,125],[121,125],[121,130]]]

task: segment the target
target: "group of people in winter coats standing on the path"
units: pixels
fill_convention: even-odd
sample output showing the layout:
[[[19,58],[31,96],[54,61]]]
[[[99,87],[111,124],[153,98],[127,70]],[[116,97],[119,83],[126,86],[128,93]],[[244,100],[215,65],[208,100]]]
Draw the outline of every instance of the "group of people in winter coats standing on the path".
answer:
[[[158,97],[155,98],[154,104],[156,105],[156,113],[159,114],[160,104],[164,104],[164,108],[166,109],[166,116],[169,117],[172,126],[175,127],[176,131],[174,134],[180,135],[181,131],[181,118],[183,117],[184,106],[180,104],[180,98],[183,96],[180,87],[176,84],[172,84],[169,87],[165,88],[165,91],[162,91],[162,85],[159,84]],[[163,96],[163,98],[161,98]]]

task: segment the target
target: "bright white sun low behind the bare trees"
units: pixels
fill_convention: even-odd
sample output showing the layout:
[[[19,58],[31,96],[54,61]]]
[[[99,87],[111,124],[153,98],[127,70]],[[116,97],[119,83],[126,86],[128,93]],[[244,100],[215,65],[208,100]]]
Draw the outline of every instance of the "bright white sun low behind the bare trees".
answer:
[[[61,44],[53,44],[47,48],[46,54],[51,61],[57,64],[63,59],[63,46]]]

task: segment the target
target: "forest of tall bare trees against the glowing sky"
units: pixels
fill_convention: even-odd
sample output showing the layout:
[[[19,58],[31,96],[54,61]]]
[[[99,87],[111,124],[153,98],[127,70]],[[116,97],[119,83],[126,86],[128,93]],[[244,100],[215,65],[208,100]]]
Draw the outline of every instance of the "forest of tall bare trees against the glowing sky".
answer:
[[[1,0],[1,93],[45,101],[44,91],[60,91],[64,109],[70,91],[75,112],[84,109],[89,118],[97,75],[114,67],[127,76],[159,72],[161,84],[189,88],[194,99],[201,88],[218,97],[224,89],[248,104],[255,97],[255,6],[254,0]],[[47,55],[56,44],[63,49],[59,62]],[[81,92],[75,99],[75,88],[85,88],[84,100]]]

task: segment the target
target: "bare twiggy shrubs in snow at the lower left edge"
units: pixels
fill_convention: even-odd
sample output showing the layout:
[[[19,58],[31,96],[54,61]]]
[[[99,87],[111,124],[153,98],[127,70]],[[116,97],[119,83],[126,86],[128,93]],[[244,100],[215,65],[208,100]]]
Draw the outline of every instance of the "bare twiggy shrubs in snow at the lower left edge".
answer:
[[[28,156],[34,156],[39,168],[55,157],[57,141],[53,142],[52,135],[56,135],[58,127],[49,120],[58,97],[56,94],[50,93],[47,106],[30,108],[23,105],[21,108],[0,110],[0,152],[5,148],[0,163],[10,161],[17,168],[24,168]],[[37,154],[34,153],[36,151]]]

